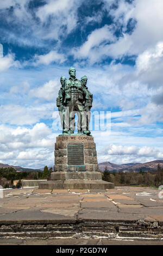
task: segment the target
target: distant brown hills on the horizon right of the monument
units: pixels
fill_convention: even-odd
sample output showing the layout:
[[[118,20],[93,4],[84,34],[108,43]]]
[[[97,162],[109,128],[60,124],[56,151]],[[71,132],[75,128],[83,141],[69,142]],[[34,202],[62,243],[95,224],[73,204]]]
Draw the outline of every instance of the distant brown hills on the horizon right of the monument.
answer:
[[[126,163],[126,164],[115,164],[110,162],[102,162],[99,163],[99,169],[104,171],[105,167],[108,168],[109,171],[115,172],[140,172],[142,169],[143,172],[155,171],[160,164],[160,167],[163,168],[163,160],[155,160],[147,163]]]

